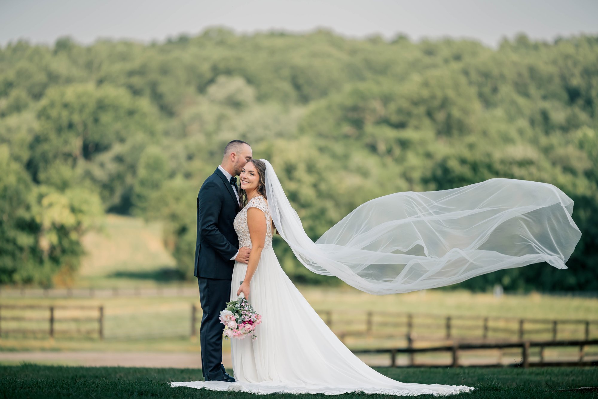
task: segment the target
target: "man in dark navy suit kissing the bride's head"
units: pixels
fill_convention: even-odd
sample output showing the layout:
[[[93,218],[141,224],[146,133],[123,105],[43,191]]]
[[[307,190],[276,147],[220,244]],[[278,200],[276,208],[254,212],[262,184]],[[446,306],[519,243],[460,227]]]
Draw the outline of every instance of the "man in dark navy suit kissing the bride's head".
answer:
[[[247,263],[249,248],[238,249],[234,217],[239,212],[239,194],[234,176],[252,157],[245,141],[233,140],[224,149],[222,164],[203,182],[197,196],[197,241],[195,271],[202,303],[202,371],[206,381],[234,382],[222,365],[222,330],[219,313],[230,301],[234,261]]]

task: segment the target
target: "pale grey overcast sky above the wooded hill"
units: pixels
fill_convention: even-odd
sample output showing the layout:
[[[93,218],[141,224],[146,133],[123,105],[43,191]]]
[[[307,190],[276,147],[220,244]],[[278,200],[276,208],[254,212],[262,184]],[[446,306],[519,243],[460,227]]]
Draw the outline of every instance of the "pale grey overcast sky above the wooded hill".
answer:
[[[0,0],[0,46],[26,38],[54,43],[69,35],[149,42],[197,34],[209,26],[237,32],[325,27],[349,37],[398,32],[475,38],[495,47],[502,37],[598,33],[598,0]]]

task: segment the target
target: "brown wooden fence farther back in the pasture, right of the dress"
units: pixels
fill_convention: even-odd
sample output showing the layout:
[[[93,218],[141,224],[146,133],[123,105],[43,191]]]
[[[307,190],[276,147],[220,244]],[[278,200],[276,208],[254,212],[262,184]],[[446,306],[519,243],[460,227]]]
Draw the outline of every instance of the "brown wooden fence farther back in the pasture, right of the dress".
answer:
[[[598,320],[533,319],[492,316],[440,316],[429,313],[332,312],[319,310],[329,328],[348,337],[417,337],[418,340],[543,339],[559,335],[589,340],[598,335]]]

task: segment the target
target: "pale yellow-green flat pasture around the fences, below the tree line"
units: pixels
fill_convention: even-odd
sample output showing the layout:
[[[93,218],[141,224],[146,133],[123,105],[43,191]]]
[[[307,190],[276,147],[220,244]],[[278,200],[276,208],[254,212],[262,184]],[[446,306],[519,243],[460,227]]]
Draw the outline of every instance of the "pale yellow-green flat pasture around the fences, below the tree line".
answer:
[[[426,331],[426,325],[417,324],[417,315],[433,313],[438,315],[437,324],[441,327],[446,315],[506,316],[514,318],[585,319],[598,315],[598,300],[594,298],[550,297],[546,295],[504,295],[495,298],[491,294],[471,294],[469,292],[428,291],[411,294],[368,295],[352,288],[299,287],[304,297],[315,309],[334,309],[332,329],[337,333],[346,330],[347,319],[352,319],[363,328],[365,313],[362,310],[392,309],[411,312],[416,315],[415,330]],[[104,307],[105,341],[95,338],[72,340],[68,336],[57,335],[53,341],[44,335],[39,337],[17,337],[3,333],[0,350],[50,349],[50,350],[180,350],[186,352],[196,343],[190,340],[191,304],[198,308],[197,319],[201,316],[199,294],[194,297],[117,297],[117,298],[2,298],[2,304],[30,305],[86,305]],[[12,312],[12,313],[11,313]],[[2,316],[16,315],[18,310],[2,310]],[[34,312],[34,311],[30,311]],[[47,310],[28,314],[31,317],[47,318]],[[57,318],[81,316],[75,310],[56,310]],[[90,311],[97,315],[97,311]],[[48,322],[40,320],[27,322],[28,328],[47,329]],[[515,328],[516,322],[512,322]],[[2,322],[2,328],[23,327],[20,322]],[[199,322],[198,322],[199,328]],[[97,328],[97,323],[86,322],[81,328]],[[68,323],[57,322],[58,330],[69,327]],[[71,325],[71,327],[75,327]],[[402,337],[402,329],[385,327],[382,320],[376,321],[376,331],[396,333]],[[481,326],[475,327],[481,331]],[[559,337],[568,337],[566,329],[560,328]],[[591,336],[598,335],[595,325]],[[582,329],[577,328],[578,335]],[[25,339],[26,338],[26,339]],[[154,339],[158,338],[158,339]],[[349,346],[360,346],[362,340],[347,338]],[[371,344],[382,344],[374,341]],[[390,344],[389,342],[385,342]]]

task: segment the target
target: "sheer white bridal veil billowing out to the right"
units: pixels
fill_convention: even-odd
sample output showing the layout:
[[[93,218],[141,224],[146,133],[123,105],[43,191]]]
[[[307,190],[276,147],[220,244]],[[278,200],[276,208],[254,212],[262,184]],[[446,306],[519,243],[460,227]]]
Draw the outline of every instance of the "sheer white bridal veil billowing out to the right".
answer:
[[[581,232],[573,201],[548,183],[490,179],[365,202],[314,243],[266,159],[272,220],[297,259],[370,294],[451,285],[492,271],[548,262],[559,269]]]

